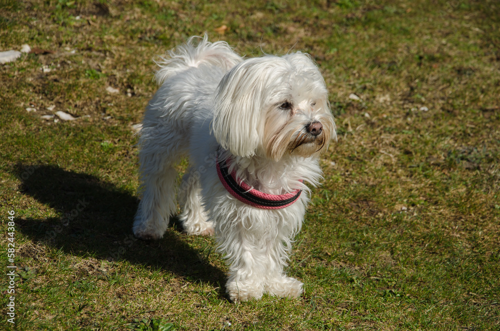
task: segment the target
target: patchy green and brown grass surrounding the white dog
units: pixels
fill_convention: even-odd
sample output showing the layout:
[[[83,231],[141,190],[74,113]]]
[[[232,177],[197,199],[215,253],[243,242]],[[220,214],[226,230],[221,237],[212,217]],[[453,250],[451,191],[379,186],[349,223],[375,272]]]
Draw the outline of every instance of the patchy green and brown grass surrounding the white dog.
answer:
[[[0,50],[41,50],[0,66],[0,266],[14,210],[16,329],[500,329],[497,1],[0,7]],[[131,234],[131,125],[156,89],[152,59],[205,31],[247,56],[309,52],[325,77],[338,140],[293,246],[297,300],[230,303],[212,238],[178,224],[155,242]],[[77,119],[41,118],[57,110]],[[1,278],[1,327],[14,329]]]

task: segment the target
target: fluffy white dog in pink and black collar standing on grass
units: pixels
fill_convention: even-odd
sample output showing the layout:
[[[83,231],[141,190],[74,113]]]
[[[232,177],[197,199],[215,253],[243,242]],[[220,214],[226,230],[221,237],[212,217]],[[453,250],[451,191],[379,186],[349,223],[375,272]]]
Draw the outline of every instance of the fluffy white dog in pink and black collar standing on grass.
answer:
[[[233,301],[264,292],[295,298],[288,253],[335,137],[324,80],[307,54],[243,59],[223,41],[191,37],[161,58],[160,87],[139,137],[142,198],[133,232],[161,238],[176,210],[176,164],[189,234],[215,233]]]

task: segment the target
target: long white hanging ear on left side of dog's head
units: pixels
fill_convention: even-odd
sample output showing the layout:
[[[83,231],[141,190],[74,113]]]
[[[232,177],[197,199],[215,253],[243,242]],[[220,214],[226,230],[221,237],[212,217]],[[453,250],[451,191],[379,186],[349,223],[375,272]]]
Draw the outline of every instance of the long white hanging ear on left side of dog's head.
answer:
[[[252,58],[229,70],[220,81],[211,123],[217,142],[233,155],[250,157],[261,144],[269,61]]]

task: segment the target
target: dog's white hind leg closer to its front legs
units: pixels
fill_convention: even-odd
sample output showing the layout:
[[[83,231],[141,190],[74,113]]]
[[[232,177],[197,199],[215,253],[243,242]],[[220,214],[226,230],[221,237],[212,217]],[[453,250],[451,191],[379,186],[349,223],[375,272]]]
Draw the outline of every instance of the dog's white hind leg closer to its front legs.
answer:
[[[201,204],[199,176],[200,173],[190,168],[182,177],[179,198],[183,211],[179,219],[187,234],[212,235],[213,222],[207,221],[207,214]]]

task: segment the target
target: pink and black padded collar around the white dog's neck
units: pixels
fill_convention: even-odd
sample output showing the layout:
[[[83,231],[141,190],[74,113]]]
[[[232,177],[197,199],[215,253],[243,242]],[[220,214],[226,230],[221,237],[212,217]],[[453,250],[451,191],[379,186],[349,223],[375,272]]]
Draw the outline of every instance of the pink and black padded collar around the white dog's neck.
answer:
[[[253,207],[260,209],[281,209],[295,202],[302,192],[301,189],[279,195],[261,192],[251,188],[250,185],[242,180],[236,180],[235,172],[229,173],[225,160],[218,160],[218,155],[216,163],[217,174],[225,189],[241,202]]]

